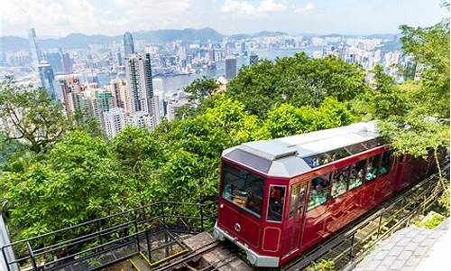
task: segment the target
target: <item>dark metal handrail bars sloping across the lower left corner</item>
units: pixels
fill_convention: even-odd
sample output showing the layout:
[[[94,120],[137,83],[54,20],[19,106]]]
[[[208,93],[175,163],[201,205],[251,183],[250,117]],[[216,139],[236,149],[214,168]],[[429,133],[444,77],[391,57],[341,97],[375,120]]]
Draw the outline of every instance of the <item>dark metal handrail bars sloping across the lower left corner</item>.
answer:
[[[200,229],[200,231],[204,230],[204,225],[206,223],[206,220],[211,220],[213,218],[216,218],[216,216],[212,215],[212,214],[206,214],[206,210],[205,207],[209,207],[212,206],[213,204],[216,204],[216,202],[197,202],[197,203],[193,203],[193,202],[179,202],[179,201],[157,201],[157,202],[152,202],[150,204],[138,207],[138,208],[134,208],[134,209],[130,209],[130,210],[124,210],[103,218],[98,218],[95,220],[89,220],[86,222],[82,222],[79,223],[77,225],[74,226],[69,226],[63,229],[58,229],[55,231],[51,231],[49,233],[44,233],[41,234],[39,236],[36,237],[32,237],[32,238],[26,238],[23,240],[19,240],[19,241],[15,241],[12,242],[10,244],[6,244],[5,246],[2,247],[2,252],[4,254],[5,257],[5,248],[14,248],[16,246],[23,246],[23,244],[26,244],[27,249],[28,249],[28,255],[25,255],[23,257],[20,257],[19,259],[15,259],[15,260],[9,260],[5,257],[5,263],[7,266],[8,270],[10,269],[10,266],[13,264],[16,264],[17,266],[19,266],[20,264],[23,264],[24,262],[28,262],[28,260],[32,261],[32,269],[33,270],[38,270],[39,268],[41,268],[42,266],[40,264],[38,264],[38,258],[39,257],[45,257],[46,255],[50,255],[50,256],[54,256],[54,253],[57,251],[64,251],[64,249],[66,248],[70,248],[73,246],[81,246],[81,247],[85,247],[88,244],[92,244],[95,241],[99,241],[100,245],[96,246],[95,248],[87,248],[87,249],[83,249],[82,251],[75,252],[75,253],[64,253],[63,257],[58,257],[53,259],[51,262],[48,263],[44,263],[44,266],[49,266],[49,265],[58,265],[61,262],[64,262],[65,260],[69,259],[69,258],[73,258],[73,257],[77,257],[78,255],[82,255],[84,253],[93,253],[92,255],[88,255],[87,257],[92,257],[92,256],[96,256],[99,252],[101,252],[101,250],[103,250],[103,248],[106,248],[106,246],[110,246],[110,245],[115,245],[115,248],[120,248],[121,246],[123,246],[123,243],[125,240],[128,240],[130,238],[135,238],[135,240],[132,241],[127,241],[127,242],[137,242],[138,244],[138,248],[139,248],[139,243],[140,243],[140,235],[145,234],[145,240],[147,242],[149,242],[148,236],[150,234],[152,234],[152,230],[153,229],[157,229],[156,227],[162,227],[163,229],[170,229],[170,227],[172,225],[176,225],[177,221],[179,220],[198,220],[199,223],[197,226],[196,225],[189,225],[188,227],[186,227],[187,229],[189,229],[186,232],[192,233],[192,232],[198,232],[196,231],[196,229],[194,229],[194,231],[191,229],[193,228],[198,228]],[[187,214],[187,215],[183,215],[180,214],[178,212],[180,211],[184,211],[184,210],[177,210],[177,207],[179,206],[192,206],[192,207],[197,207],[198,210],[194,210],[194,213],[198,213],[199,216],[196,215],[192,215],[192,214]],[[175,207],[174,209],[171,210],[167,210],[168,207]],[[152,212],[149,211],[145,211],[146,209],[152,208],[152,210],[154,210]],[[102,229],[102,222],[106,222],[106,221],[110,221],[111,219],[114,218],[122,218],[125,215],[129,215],[131,214],[132,218],[128,218],[128,221],[126,222],[118,222],[110,227],[107,227],[106,229]],[[130,220],[131,219],[131,220]],[[173,220],[172,220],[173,219]],[[175,220],[175,223],[174,223]],[[115,221],[115,220],[113,220]],[[97,223],[97,224],[94,224]],[[155,224],[155,225],[152,225]],[[92,229],[89,229],[90,232],[88,232],[87,234],[81,235],[81,236],[77,236],[75,238],[68,238],[65,240],[62,240],[56,244],[51,244],[51,245],[47,245],[45,246],[45,239],[44,238],[57,238],[59,234],[61,233],[68,233],[70,230],[73,229],[83,229],[82,227],[92,227],[92,225],[96,226],[96,229],[94,229],[95,231],[92,231]],[[145,225],[143,227],[143,225]],[[185,227],[186,225],[184,225]],[[158,228],[160,229],[160,228]],[[128,233],[125,233],[125,237],[123,235],[123,237],[121,238],[115,238],[113,235],[116,233],[120,233],[121,231],[127,231]],[[134,233],[130,233],[130,230],[133,230]],[[133,232],[132,231],[132,232]],[[158,232],[158,231],[157,231]],[[110,238],[108,238],[110,237]],[[111,238],[113,237],[113,238]],[[33,250],[32,248],[32,243],[36,243],[39,244],[40,246],[44,245],[41,248],[35,249]],[[149,246],[148,246],[149,247]],[[113,248],[114,249],[114,248]],[[108,248],[106,250],[112,250],[111,248]],[[139,249],[138,249],[139,250]],[[149,253],[151,253],[149,251]],[[82,260],[82,258],[86,258],[86,257],[81,257],[77,260]]]

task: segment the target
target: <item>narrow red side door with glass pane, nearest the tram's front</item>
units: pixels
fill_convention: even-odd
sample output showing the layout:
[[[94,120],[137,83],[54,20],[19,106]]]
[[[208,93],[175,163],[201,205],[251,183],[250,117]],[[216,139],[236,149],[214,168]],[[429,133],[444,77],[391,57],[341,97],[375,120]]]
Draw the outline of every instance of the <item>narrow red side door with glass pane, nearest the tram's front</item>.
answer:
[[[302,235],[304,201],[307,192],[307,183],[296,183],[290,187],[289,214],[284,229],[283,256],[290,254],[300,246]]]

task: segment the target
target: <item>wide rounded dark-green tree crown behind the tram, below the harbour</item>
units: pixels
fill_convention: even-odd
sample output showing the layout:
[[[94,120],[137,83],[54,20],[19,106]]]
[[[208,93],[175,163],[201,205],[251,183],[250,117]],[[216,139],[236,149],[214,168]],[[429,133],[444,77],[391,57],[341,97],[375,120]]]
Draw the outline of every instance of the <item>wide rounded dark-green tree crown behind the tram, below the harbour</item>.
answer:
[[[326,97],[349,101],[368,89],[364,76],[363,69],[335,57],[311,59],[298,53],[242,68],[226,95],[263,118],[271,107],[283,103],[318,106]]]

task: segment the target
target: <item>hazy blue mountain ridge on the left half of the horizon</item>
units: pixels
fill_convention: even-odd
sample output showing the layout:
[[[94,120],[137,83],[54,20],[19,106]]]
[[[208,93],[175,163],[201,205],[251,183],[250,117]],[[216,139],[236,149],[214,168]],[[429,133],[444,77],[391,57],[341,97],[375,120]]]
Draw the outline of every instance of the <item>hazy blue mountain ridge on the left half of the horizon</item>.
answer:
[[[183,42],[218,42],[223,39],[221,33],[211,28],[203,29],[165,29],[155,31],[145,31],[133,33],[135,40],[144,42],[174,42],[181,40]],[[77,49],[87,48],[89,44],[102,44],[110,42],[122,42],[122,35],[86,35],[82,33],[71,33],[66,37],[57,39],[38,39],[38,45],[41,49],[64,48]],[[25,38],[5,36],[0,37],[0,49],[5,51],[26,50],[29,48],[28,40]]]

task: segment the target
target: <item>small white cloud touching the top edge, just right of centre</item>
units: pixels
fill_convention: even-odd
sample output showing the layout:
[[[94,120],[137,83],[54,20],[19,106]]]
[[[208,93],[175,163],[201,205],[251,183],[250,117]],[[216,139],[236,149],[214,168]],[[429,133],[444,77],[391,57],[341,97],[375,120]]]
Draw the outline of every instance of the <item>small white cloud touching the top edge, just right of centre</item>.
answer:
[[[248,1],[226,0],[221,10],[226,13],[257,17],[265,14],[281,12],[287,9],[285,1],[263,0],[260,5],[253,5]]]

